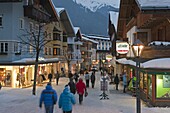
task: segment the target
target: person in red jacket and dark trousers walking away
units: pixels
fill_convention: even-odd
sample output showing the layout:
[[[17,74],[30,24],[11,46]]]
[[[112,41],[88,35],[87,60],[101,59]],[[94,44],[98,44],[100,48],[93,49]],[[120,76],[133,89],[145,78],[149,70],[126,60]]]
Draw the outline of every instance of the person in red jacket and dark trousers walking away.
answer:
[[[79,81],[76,84],[76,90],[77,90],[77,94],[79,95],[79,104],[82,104],[83,95],[85,92],[87,92],[86,85],[83,82],[82,78],[79,78]]]

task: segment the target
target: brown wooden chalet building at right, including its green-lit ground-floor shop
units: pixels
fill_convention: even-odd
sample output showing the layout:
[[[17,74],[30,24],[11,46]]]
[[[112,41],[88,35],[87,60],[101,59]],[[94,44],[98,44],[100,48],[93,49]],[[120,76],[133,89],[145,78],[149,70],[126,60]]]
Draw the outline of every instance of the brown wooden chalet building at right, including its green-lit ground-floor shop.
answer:
[[[140,94],[141,98],[153,106],[170,106],[170,84],[166,78],[170,76],[170,67],[162,66],[160,60],[170,58],[170,2],[166,0],[121,0],[117,26],[117,40],[126,41],[130,51],[126,58],[134,60],[133,42],[142,41],[145,48],[140,56]],[[155,65],[155,61],[158,64]],[[168,60],[167,60],[168,61]],[[144,66],[150,62],[149,66]],[[128,73],[128,79],[135,74],[135,66],[120,64]],[[164,64],[166,65],[166,64]],[[120,67],[121,67],[120,66]],[[159,67],[158,67],[159,66]]]

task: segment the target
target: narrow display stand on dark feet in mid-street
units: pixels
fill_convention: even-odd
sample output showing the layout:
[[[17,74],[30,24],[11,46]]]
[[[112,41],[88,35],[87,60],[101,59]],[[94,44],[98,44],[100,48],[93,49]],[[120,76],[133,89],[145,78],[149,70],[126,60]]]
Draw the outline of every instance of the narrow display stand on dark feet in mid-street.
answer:
[[[103,91],[103,93],[100,95],[101,96],[100,100],[109,99],[108,95],[105,93],[108,90],[108,81],[106,80],[105,77],[103,77],[100,80],[100,87],[101,87],[101,91]]]

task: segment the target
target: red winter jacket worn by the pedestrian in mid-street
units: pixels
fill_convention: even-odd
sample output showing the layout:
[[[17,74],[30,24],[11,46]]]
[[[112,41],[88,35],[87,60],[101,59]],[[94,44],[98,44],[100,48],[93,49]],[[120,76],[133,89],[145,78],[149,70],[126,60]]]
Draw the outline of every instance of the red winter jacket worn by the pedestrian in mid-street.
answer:
[[[86,91],[86,85],[82,79],[79,79],[79,82],[76,84],[76,89],[78,94],[84,94],[84,91]]]

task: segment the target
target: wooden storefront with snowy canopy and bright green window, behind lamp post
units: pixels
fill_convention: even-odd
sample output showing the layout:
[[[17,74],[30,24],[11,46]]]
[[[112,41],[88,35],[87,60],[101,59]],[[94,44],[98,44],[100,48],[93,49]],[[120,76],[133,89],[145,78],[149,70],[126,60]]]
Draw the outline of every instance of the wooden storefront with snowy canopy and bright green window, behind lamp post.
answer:
[[[136,76],[134,61],[119,59],[121,71],[127,72],[128,81]],[[140,97],[153,106],[170,106],[170,58],[154,59],[140,64]],[[131,90],[128,86],[129,90]],[[135,85],[134,85],[135,86]]]

